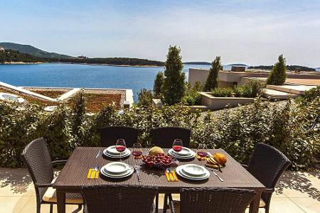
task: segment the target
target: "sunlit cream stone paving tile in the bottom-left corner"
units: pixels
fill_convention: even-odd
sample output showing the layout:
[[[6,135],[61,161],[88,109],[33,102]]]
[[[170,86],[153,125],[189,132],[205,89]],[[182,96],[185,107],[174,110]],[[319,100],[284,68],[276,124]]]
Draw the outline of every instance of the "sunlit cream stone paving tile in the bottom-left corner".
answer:
[[[0,212],[19,213],[30,197],[0,197]]]

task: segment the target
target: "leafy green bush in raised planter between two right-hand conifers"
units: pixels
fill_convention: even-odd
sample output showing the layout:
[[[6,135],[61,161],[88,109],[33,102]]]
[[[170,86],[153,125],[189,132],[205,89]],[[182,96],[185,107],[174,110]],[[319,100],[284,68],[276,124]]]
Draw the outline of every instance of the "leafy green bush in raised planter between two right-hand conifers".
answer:
[[[235,97],[257,97],[265,87],[265,83],[259,80],[248,80],[242,86],[233,87]]]

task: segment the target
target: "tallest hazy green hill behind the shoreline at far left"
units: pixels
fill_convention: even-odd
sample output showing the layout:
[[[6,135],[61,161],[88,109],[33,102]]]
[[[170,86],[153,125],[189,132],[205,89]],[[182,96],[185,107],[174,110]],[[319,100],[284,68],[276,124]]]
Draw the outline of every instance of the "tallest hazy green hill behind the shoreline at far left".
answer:
[[[44,50],[40,50],[31,45],[21,45],[18,43],[10,43],[10,42],[2,42],[0,46],[6,50],[17,50],[20,53],[27,53],[29,55],[33,55],[40,58],[73,58],[70,55],[62,55],[58,53],[49,53]]]

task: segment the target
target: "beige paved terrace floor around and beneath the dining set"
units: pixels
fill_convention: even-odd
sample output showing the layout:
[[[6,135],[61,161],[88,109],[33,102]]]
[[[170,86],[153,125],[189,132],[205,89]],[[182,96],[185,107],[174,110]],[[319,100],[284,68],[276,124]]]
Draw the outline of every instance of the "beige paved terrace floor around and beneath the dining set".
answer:
[[[160,195],[160,207],[163,199],[164,195]],[[73,212],[76,208],[67,205],[66,212]],[[320,212],[319,209],[320,170],[285,172],[272,197],[270,212]],[[26,169],[0,168],[0,212],[36,212],[34,187]],[[49,205],[43,205],[41,212],[49,212]],[[261,209],[260,212],[265,211]]]

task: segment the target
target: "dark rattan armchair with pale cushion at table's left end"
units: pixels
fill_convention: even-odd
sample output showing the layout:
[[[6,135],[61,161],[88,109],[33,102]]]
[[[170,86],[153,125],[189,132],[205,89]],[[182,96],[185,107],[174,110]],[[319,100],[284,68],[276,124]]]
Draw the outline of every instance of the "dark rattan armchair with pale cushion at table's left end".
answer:
[[[67,160],[51,161],[47,143],[43,138],[29,143],[24,148],[21,157],[28,168],[36,190],[36,212],[41,212],[41,204],[50,204],[50,213],[52,213],[53,204],[57,202],[55,189],[52,187],[54,182],[53,165],[65,163]],[[76,211],[80,211],[83,204],[80,193],[67,193],[65,197],[65,203],[78,204]]]

